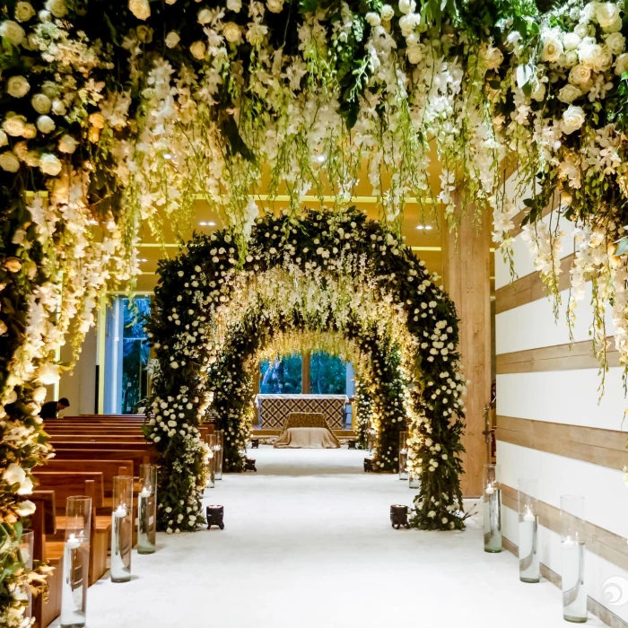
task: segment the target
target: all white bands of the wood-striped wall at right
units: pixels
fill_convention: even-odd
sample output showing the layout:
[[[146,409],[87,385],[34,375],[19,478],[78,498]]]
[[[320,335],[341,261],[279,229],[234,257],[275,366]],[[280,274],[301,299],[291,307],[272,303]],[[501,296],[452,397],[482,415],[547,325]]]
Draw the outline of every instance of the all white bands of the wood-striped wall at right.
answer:
[[[563,257],[566,257],[573,252],[572,230],[570,225],[562,225],[562,228],[566,232],[563,239]],[[520,235],[515,239],[513,249],[518,276],[535,272],[528,247]],[[510,282],[510,269],[502,261],[499,251],[495,253],[495,277],[497,289]],[[563,304],[558,321],[554,319],[553,305],[548,299],[533,301],[498,314],[495,318],[496,353],[511,353],[569,343],[569,329],[565,316],[569,291],[563,291],[562,297]],[[588,340],[590,337],[589,327],[593,318],[589,299],[590,286],[577,310],[577,322],[573,329],[573,339],[576,342]],[[607,333],[612,335],[610,313],[607,313],[606,325]],[[622,369],[613,368],[606,374],[606,394],[598,403],[600,381],[597,369],[502,375],[498,373],[497,414],[519,419],[628,431],[628,424],[623,424],[628,401],[624,398]],[[537,477],[539,499],[555,508],[560,508],[562,494],[584,495],[586,519],[616,535],[628,537],[628,489],[624,486],[621,469],[601,467],[502,441],[497,443],[497,462],[502,466],[505,484],[516,489],[519,477]],[[517,545],[518,515],[509,508],[503,510],[504,536]],[[560,574],[560,537],[551,530],[541,527],[540,541],[542,562]],[[604,583],[611,576],[624,578],[628,587],[627,571],[588,551],[586,577],[589,597],[628,622],[628,603],[614,606],[606,601]],[[560,604],[560,593],[557,592],[557,605]]]

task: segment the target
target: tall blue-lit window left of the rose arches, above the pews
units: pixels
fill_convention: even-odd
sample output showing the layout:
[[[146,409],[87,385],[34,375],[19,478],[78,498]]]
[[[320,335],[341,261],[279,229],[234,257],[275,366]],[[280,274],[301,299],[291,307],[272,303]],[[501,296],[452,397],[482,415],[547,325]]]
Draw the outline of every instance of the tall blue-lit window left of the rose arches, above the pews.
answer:
[[[136,414],[148,396],[150,348],[144,319],[150,311],[150,297],[136,297],[134,301],[118,297],[107,311],[105,414]]]

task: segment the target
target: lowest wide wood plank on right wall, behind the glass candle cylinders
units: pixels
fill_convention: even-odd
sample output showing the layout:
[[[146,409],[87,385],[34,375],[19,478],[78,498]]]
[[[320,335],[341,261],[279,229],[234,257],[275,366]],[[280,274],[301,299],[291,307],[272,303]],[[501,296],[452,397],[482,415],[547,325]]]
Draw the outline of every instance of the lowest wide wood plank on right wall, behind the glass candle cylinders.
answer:
[[[502,503],[519,512],[517,489],[502,484]],[[538,502],[538,523],[556,534],[561,534],[561,510],[545,502]],[[628,545],[623,536],[586,523],[587,549],[618,567],[628,571]]]

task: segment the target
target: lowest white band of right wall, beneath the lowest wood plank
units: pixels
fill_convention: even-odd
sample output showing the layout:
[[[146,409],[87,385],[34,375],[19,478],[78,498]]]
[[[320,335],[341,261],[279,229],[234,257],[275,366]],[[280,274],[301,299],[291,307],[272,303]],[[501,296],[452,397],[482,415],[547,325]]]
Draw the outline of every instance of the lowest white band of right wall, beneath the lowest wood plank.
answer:
[[[504,537],[508,538],[515,545],[519,545],[518,525],[519,516],[517,512],[504,507],[502,509],[502,533]],[[539,526],[538,547],[541,562],[560,575],[562,571],[561,537],[552,530],[545,528],[545,526]],[[606,606],[611,613],[615,613],[624,622],[628,622],[628,571],[620,569],[617,565],[609,563],[604,558],[589,551],[586,553],[584,560],[585,586],[587,587],[589,597],[595,599],[602,606]],[[609,592],[610,578],[620,579],[618,582],[620,587],[625,587],[626,601],[620,598],[616,604],[609,603],[607,594]],[[562,600],[559,589],[556,589],[556,591],[557,606],[560,611]]]

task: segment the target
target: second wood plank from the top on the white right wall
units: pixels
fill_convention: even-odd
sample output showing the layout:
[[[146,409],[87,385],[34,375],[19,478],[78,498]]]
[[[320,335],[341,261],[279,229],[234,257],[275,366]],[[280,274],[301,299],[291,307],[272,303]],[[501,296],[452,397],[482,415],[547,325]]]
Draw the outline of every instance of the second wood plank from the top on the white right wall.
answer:
[[[609,338],[609,342],[612,339]],[[610,345],[606,349],[608,366],[619,366],[619,352]],[[593,343],[585,340],[573,345],[544,346],[526,351],[500,353],[496,356],[498,375],[507,373],[531,373],[539,371],[572,371],[596,369],[599,362],[593,353]]]

